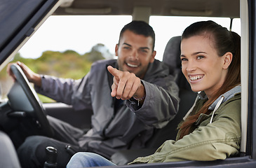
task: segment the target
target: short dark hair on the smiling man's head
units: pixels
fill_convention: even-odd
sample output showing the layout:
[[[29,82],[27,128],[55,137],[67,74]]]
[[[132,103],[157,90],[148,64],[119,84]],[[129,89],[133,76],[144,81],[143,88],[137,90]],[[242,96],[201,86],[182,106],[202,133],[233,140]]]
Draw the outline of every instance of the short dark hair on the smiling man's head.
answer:
[[[143,35],[143,36],[151,36],[153,39],[153,48],[152,51],[154,51],[154,46],[155,46],[155,33],[154,29],[147,24],[147,22],[144,21],[138,21],[138,20],[133,20],[132,22],[128,23],[121,29],[120,36],[119,36],[119,42],[121,37],[123,36],[123,32],[126,30],[130,30],[135,34]]]

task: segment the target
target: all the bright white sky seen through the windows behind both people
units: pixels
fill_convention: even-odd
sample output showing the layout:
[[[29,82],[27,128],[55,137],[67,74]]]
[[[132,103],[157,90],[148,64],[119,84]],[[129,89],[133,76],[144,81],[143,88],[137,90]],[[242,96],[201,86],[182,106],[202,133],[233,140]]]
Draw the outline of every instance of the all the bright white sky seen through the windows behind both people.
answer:
[[[124,25],[132,20],[131,16],[50,16],[34,35],[20,49],[25,58],[37,58],[46,50],[74,50],[83,55],[90,52],[97,43],[104,44],[114,55],[119,33]],[[162,60],[163,51],[172,36],[180,36],[191,23],[199,20],[213,20],[229,27],[229,18],[195,18],[151,16],[149,25],[156,34],[156,59]],[[239,25],[240,20],[234,20]],[[240,25],[234,26],[240,34]]]

